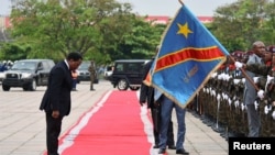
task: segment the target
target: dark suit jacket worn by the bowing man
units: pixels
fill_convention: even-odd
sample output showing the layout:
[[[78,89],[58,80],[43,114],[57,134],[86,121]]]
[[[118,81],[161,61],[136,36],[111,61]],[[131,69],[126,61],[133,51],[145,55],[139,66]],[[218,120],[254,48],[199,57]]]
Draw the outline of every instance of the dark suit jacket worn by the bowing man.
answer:
[[[73,78],[66,63],[59,62],[50,73],[47,89],[42,99],[40,110],[52,112],[58,110],[62,117],[70,112],[70,90]]]

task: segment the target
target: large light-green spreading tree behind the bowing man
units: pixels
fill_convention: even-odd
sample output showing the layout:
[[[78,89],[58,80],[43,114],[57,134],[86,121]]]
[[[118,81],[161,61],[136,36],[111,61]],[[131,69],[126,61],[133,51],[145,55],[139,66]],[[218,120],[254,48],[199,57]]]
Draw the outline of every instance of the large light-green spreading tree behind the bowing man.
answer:
[[[18,44],[30,45],[29,57],[61,59],[72,51],[86,55],[105,46],[101,26],[114,33],[112,38],[118,31],[111,25],[130,10],[114,0],[22,0],[11,13],[11,33]],[[120,30],[127,26],[121,24]]]

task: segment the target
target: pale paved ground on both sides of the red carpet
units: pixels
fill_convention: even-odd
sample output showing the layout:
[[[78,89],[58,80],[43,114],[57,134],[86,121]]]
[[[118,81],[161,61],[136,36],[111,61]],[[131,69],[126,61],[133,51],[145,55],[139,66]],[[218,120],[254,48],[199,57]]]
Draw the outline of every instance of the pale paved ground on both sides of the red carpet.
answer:
[[[78,91],[72,92],[72,113],[63,121],[62,134],[106,91],[114,89],[109,81],[99,81],[95,88],[96,91],[89,91],[89,85],[81,82],[77,86]],[[45,115],[38,106],[45,89],[38,87],[36,91],[30,92],[21,88],[11,88],[10,91],[0,88],[0,155],[41,155],[44,152]],[[176,129],[174,117],[173,120]],[[186,124],[185,148],[191,155],[228,154],[227,141],[191,112],[187,112]],[[168,150],[167,153],[175,155],[175,151]]]

